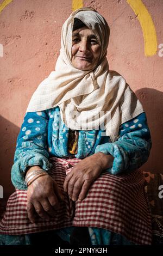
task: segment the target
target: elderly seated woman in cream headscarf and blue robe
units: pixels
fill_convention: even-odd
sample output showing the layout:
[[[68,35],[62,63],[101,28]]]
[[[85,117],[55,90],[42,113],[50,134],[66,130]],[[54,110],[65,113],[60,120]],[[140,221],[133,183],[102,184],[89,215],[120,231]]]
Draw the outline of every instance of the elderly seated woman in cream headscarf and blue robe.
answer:
[[[92,8],[64,23],[55,71],[30,100],[17,138],[1,244],[56,235],[71,245],[151,244],[137,169],[151,136],[141,103],[109,70],[108,42],[108,24]]]

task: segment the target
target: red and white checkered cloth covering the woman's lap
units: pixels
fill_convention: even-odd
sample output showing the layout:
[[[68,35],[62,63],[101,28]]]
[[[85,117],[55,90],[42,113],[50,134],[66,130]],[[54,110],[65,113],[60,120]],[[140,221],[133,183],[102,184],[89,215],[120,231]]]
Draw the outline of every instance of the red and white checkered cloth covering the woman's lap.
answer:
[[[0,222],[0,234],[29,234],[73,225],[108,229],[140,245],[151,245],[151,215],[140,170],[121,175],[103,172],[93,182],[86,198],[74,203],[64,192],[63,184],[66,173],[81,160],[53,157],[51,161],[53,167],[49,175],[65,195],[65,202],[61,202],[56,216],[51,221],[38,217],[35,224],[30,223],[27,191],[16,190],[9,197],[7,210]]]

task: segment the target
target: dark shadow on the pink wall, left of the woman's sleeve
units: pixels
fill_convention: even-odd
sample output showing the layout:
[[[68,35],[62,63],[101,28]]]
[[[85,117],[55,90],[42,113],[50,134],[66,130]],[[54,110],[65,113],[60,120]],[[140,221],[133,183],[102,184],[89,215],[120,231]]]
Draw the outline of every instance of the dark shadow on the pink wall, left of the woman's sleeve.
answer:
[[[11,183],[11,167],[20,128],[0,116],[0,130],[0,185],[3,187],[3,198],[0,198],[0,205],[2,205],[14,191],[14,186]]]

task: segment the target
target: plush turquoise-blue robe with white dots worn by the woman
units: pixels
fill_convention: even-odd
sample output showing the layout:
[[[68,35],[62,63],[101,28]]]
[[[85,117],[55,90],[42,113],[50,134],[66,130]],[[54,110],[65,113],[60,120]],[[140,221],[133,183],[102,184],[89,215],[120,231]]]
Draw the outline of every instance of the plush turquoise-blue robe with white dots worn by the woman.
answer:
[[[151,150],[151,135],[145,112],[120,126],[118,139],[111,142],[105,131],[78,131],[78,149],[73,157],[84,159],[92,154],[102,152],[114,156],[114,162],[107,171],[116,175],[127,173],[142,166],[148,159]],[[24,173],[29,166],[51,168],[49,158],[52,156],[72,157],[68,149],[70,129],[60,118],[60,108],[55,107],[40,112],[29,112],[24,117],[17,138],[14,164],[11,169],[11,180],[14,186],[26,190]],[[54,230],[63,240],[69,241],[73,227]],[[88,228],[92,245],[128,244],[130,241],[120,234],[109,230]],[[111,238],[112,237],[112,238]],[[28,245],[30,235],[0,235],[0,245]]]

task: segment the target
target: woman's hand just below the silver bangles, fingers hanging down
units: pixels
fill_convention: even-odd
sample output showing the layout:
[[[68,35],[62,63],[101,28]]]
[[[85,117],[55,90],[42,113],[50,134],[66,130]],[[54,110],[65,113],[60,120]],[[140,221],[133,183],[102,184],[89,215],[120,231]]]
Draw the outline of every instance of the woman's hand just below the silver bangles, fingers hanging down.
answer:
[[[60,200],[64,200],[64,196],[51,176],[42,175],[35,179],[27,190],[27,214],[30,222],[35,223],[36,214],[50,220],[51,216],[55,216]]]

